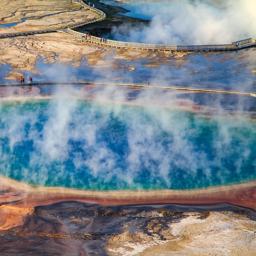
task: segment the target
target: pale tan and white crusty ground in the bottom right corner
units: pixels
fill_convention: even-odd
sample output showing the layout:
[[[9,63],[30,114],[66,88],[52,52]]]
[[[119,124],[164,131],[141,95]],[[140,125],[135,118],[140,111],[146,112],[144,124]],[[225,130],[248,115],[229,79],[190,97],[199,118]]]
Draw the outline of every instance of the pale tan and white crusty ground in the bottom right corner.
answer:
[[[168,223],[169,228],[151,234],[125,231],[109,239],[107,250],[112,256],[223,256],[248,255],[256,250],[256,223],[233,212],[184,213],[186,218]],[[158,222],[152,228],[161,228]],[[150,231],[150,230],[149,230]]]

